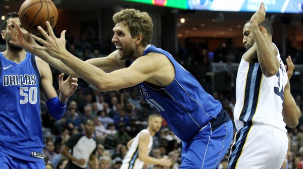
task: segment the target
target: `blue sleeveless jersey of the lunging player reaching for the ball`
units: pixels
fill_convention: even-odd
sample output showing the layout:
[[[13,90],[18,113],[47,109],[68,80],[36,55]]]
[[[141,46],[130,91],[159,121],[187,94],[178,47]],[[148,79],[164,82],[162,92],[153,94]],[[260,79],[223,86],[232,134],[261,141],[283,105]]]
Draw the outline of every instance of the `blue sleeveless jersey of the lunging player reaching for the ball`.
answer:
[[[140,93],[147,102],[157,108],[178,138],[189,141],[201,128],[217,117],[222,111],[222,104],[208,94],[169,52],[148,45],[143,57],[148,57],[146,54],[149,52],[166,55],[175,67],[175,78],[164,88],[155,87],[147,82],[140,83],[138,85]],[[127,64],[126,62],[126,66]]]

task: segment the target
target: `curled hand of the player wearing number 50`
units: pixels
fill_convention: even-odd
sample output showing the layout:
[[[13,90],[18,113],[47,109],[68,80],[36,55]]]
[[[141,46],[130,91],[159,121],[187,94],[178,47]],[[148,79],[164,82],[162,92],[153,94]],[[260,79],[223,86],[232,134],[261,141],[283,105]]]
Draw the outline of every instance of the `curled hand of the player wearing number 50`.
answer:
[[[76,91],[78,87],[78,79],[69,76],[66,80],[63,80],[63,76],[64,73],[59,76],[59,91],[60,95],[65,97],[67,101],[67,98],[70,97]]]

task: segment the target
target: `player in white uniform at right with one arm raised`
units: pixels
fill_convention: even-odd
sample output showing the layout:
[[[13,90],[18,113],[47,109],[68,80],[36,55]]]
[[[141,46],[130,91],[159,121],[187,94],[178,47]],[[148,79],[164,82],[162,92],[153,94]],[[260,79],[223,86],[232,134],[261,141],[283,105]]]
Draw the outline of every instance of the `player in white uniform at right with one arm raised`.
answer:
[[[287,78],[292,70],[286,72],[272,33],[261,3],[243,27],[247,52],[238,68],[234,108],[238,131],[227,168],[280,168],[288,147],[285,123],[292,128],[298,124],[300,110]]]

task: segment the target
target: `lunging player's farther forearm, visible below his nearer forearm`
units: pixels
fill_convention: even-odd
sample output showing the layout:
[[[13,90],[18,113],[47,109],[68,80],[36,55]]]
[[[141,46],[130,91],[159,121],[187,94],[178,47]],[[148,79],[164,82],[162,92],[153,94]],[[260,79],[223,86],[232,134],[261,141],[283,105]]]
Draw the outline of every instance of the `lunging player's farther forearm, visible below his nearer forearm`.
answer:
[[[59,70],[60,72],[63,72],[65,74],[68,74],[72,77],[78,77],[78,75],[71,70],[69,67],[67,67],[64,63],[62,63],[60,60],[51,57],[47,52],[44,50],[35,50],[34,53],[37,57],[41,58],[43,61],[54,67],[55,69]]]

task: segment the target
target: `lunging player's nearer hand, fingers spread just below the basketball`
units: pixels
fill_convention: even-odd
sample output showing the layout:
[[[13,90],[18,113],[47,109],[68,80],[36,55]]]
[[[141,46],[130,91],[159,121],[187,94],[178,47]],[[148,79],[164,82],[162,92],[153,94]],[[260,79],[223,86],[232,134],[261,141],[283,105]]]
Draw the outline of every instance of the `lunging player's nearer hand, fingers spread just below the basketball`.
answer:
[[[40,45],[33,45],[32,47],[35,49],[45,50],[49,55],[51,55],[54,58],[60,59],[62,53],[66,52],[65,48],[65,32],[66,30],[61,32],[60,38],[57,38],[54,34],[53,28],[51,24],[49,24],[48,21],[46,21],[46,27],[49,35],[42,29],[41,26],[38,26],[38,30],[41,32],[43,37],[46,40],[43,40],[35,35],[32,35],[32,37],[37,40],[39,43],[43,44],[44,46]]]

